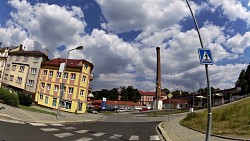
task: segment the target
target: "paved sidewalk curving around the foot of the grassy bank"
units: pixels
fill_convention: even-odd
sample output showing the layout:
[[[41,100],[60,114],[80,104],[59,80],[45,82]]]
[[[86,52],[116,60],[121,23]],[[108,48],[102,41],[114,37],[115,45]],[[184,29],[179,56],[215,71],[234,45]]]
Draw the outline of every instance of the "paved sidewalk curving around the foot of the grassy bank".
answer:
[[[160,126],[162,127],[162,134],[167,141],[204,141],[206,134],[188,129],[179,124],[179,121],[183,119],[186,114],[180,117],[172,118],[169,121],[164,121]],[[231,141],[229,139],[223,139],[211,136],[211,141]]]

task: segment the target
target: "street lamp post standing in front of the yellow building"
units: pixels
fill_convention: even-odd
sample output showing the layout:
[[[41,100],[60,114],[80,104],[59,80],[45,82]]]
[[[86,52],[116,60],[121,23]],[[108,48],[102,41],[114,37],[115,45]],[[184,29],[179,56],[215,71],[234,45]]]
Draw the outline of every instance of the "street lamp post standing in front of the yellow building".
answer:
[[[66,70],[66,66],[67,66],[67,62],[68,62],[68,57],[69,57],[70,51],[73,51],[73,50],[82,50],[82,49],[83,49],[83,46],[78,46],[76,48],[68,50],[67,58],[66,58],[65,63],[61,63],[61,65],[60,65],[60,69],[59,69],[60,73],[63,74],[63,72]],[[62,66],[63,69],[61,69],[61,66]],[[58,103],[57,114],[56,114],[56,118],[57,119],[58,119],[58,116],[60,114],[61,101],[62,101],[62,98],[63,98],[63,91],[64,91],[63,88],[64,88],[64,83],[60,83],[60,96],[59,96],[59,103]]]

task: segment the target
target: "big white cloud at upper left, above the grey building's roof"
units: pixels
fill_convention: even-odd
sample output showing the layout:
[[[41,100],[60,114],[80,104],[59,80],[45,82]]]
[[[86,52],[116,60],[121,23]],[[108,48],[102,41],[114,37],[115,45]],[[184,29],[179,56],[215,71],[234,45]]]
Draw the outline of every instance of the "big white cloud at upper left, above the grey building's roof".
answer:
[[[60,7],[45,3],[31,5],[27,1],[19,0],[9,3],[16,9],[10,14],[15,26],[25,29],[28,38],[51,52],[58,46],[75,44],[79,34],[84,33],[86,23],[82,20],[83,12],[79,7]]]

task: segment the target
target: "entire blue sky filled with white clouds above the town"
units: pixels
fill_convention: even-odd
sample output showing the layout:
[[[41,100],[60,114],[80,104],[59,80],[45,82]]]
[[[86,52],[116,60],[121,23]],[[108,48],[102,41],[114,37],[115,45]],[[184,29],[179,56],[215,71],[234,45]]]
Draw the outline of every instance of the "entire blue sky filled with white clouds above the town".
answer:
[[[94,64],[94,90],[132,85],[154,90],[156,47],[161,48],[162,88],[206,86],[199,38],[185,0],[0,1],[2,47],[49,50],[49,57]],[[250,2],[190,0],[204,47],[211,49],[211,86],[234,87],[250,61]]]

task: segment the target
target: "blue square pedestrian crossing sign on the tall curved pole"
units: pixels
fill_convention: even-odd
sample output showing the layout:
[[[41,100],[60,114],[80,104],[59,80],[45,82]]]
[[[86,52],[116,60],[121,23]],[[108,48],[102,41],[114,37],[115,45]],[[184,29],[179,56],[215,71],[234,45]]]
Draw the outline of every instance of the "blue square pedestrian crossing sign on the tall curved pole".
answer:
[[[200,63],[202,65],[213,65],[214,61],[210,49],[198,48]]]

